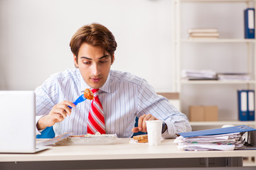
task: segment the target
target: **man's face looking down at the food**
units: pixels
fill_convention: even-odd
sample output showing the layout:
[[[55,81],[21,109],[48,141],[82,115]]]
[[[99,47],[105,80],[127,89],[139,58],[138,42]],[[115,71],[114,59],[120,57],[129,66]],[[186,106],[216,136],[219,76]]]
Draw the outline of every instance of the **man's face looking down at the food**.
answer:
[[[78,52],[78,61],[74,55],[75,66],[79,68],[82,78],[92,89],[99,89],[107,81],[110,67],[114,61],[110,53],[102,47],[83,43]]]

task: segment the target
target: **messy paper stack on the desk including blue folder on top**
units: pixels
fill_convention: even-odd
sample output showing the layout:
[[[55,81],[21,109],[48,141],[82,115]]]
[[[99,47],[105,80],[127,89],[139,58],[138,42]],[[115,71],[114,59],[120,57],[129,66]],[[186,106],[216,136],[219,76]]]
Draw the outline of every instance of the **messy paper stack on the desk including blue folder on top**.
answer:
[[[188,151],[233,150],[242,147],[242,135],[245,132],[255,130],[255,128],[240,125],[229,128],[181,132],[174,142],[178,144],[178,148]]]

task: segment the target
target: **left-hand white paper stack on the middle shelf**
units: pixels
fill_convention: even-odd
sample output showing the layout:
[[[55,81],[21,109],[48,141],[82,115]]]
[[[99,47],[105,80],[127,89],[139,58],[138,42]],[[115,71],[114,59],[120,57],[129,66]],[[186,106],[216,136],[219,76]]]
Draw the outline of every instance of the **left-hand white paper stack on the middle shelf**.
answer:
[[[196,79],[216,79],[216,72],[210,69],[195,70],[183,69],[181,72],[183,79],[196,80]]]

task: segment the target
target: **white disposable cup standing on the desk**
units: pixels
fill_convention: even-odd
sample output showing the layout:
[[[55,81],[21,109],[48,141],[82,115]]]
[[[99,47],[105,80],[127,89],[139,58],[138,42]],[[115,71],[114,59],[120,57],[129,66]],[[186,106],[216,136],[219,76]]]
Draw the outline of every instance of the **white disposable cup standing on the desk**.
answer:
[[[163,120],[146,120],[149,145],[160,145]]]

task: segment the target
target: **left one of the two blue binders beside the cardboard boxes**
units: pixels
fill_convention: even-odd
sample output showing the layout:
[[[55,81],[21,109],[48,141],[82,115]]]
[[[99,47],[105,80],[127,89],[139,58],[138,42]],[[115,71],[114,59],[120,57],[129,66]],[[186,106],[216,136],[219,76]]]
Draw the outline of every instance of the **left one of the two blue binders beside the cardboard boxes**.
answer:
[[[238,118],[241,121],[248,120],[247,113],[247,91],[239,90],[238,91]]]

